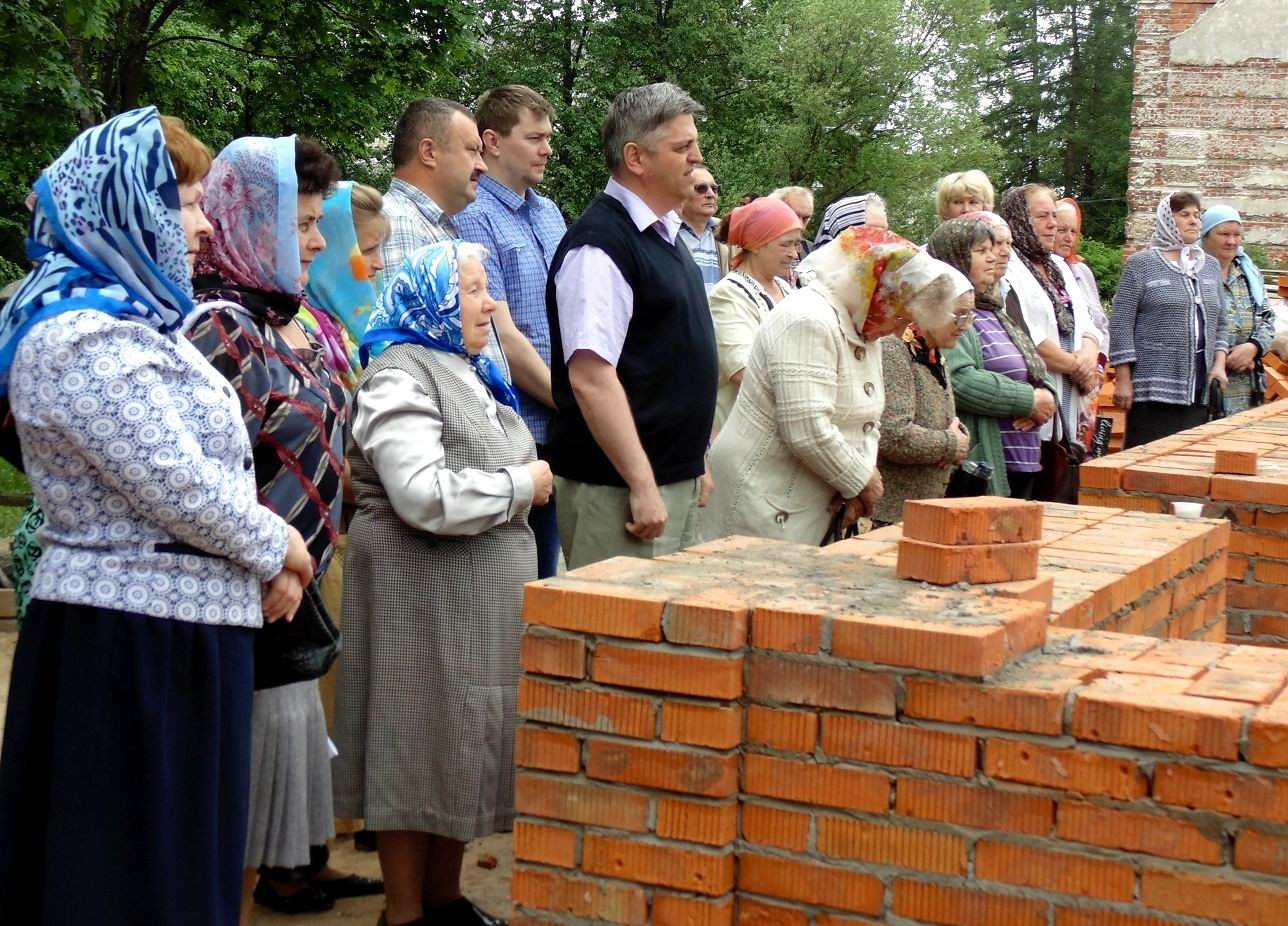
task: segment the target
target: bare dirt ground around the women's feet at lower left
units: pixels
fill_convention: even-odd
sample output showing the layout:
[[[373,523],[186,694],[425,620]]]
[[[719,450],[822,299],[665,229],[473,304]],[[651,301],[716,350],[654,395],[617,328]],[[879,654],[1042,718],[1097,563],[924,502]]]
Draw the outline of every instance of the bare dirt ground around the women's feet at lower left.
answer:
[[[18,635],[12,621],[0,621],[0,729],[5,706],[9,698],[9,671],[13,666],[13,648]],[[496,868],[486,869],[478,865],[482,856],[495,856]],[[353,840],[336,840],[331,864],[344,872],[357,872],[367,877],[380,877],[380,864],[375,853],[359,853],[353,847]],[[514,864],[513,841],[509,833],[498,833],[471,842],[465,855],[462,882],[465,895],[482,909],[496,916],[510,916],[510,868]],[[255,909],[256,923],[291,923],[292,926],[375,926],[384,898],[357,898],[340,900],[330,913],[314,916],[281,916],[263,908]]]

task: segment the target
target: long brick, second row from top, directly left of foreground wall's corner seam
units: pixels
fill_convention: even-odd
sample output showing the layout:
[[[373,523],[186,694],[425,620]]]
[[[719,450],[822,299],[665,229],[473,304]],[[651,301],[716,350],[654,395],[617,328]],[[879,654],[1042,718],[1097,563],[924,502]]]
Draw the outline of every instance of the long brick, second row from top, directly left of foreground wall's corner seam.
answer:
[[[742,694],[742,657],[600,643],[591,661],[590,677],[618,688],[737,698]]]

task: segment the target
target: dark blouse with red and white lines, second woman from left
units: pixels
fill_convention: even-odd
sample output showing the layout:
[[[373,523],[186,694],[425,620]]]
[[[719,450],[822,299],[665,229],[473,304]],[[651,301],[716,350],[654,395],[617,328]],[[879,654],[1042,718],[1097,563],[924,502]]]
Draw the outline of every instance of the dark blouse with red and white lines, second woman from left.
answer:
[[[301,352],[218,290],[188,337],[237,390],[259,498],[300,532],[321,576],[340,533],[348,395],[321,348]],[[214,301],[205,301],[214,300]]]

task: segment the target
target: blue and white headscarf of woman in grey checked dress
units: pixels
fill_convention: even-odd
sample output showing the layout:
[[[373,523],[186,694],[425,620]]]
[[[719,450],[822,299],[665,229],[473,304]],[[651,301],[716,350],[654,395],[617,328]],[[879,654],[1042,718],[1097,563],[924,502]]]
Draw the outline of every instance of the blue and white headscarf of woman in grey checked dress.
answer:
[[[497,402],[518,411],[519,397],[501,370],[465,349],[461,335],[462,241],[439,241],[413,251],[388,282],[362,336],[366,364],[390,344],[421,344],[469,359]]]

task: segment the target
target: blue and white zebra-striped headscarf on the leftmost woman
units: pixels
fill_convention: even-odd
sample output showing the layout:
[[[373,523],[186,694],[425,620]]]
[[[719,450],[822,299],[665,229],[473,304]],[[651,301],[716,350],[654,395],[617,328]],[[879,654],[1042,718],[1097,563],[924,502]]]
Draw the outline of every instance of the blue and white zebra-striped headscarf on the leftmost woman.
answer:
[[[27,274],[0,313],[0,394],[18,341],[63,312],[94,309],[171,334],[192,312],[179,179],[156,107],[76,137],[35,183]]]

